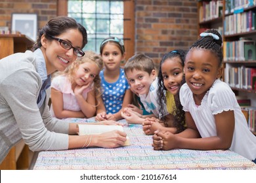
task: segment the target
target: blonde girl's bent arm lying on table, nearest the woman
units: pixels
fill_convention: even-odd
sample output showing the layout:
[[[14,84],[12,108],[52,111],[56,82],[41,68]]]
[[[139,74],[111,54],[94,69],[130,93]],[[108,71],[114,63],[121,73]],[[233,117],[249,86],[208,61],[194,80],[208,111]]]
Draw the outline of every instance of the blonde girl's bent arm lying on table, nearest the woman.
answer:
[[[56,118],[85,118],[81,111],[64,110],[62,92],[51,88],[51,101]]]

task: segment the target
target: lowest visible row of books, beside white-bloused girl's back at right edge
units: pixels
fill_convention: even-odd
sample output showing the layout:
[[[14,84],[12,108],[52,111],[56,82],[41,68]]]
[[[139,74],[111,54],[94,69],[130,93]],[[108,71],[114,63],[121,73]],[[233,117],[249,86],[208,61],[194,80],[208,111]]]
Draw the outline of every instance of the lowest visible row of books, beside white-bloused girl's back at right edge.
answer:
[[[242,112],[247,120],[249,130],[256,132],[256,107],[241,107]]]

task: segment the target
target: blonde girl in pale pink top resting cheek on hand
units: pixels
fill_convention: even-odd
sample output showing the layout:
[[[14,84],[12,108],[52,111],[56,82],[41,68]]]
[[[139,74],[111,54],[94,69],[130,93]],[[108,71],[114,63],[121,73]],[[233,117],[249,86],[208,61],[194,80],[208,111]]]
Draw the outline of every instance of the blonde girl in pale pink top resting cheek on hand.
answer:
[[[56,118],[91,118],[100,97],[102,58],[87,51],[51,84],[51,114]]]

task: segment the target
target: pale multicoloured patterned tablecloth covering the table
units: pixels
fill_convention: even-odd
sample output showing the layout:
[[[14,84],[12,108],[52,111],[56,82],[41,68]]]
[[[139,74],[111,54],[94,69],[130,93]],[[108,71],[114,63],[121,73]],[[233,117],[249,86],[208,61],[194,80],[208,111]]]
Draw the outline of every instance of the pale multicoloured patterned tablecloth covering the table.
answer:
[[[124,130],[131,146],[43,151],[34,169],[256,169],[255,163],[230,150],[156,151],[152,136],[144,135],[142,125],[125,123]]]

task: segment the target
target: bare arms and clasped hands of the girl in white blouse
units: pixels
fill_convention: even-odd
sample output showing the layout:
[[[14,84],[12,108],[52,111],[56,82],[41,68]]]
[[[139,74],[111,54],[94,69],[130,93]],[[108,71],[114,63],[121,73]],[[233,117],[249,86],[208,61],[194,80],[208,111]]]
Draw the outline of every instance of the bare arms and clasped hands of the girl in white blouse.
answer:
[[[195,150],[226,150],[230,148],[234,133],[234,111],[223,111],[215,115],[215,124],[217,128],[217,135],[213,137],[204,137],[195,139],[196,126],[191,115],[186,112],[186,120],[188,129],[183,132],[173,135],[171,133],[157,132],[154,135],[152,146],[154,149],[169,150],[173,148],[188,148]],[[190,119],[189,116],[191,117]],[[188,117],[188,118],[187,118]],[[193,135],[194,134],[194,135]],[[198,133],[199,137],[199,133]],[[191,139],[188,139],[191,138]]]

